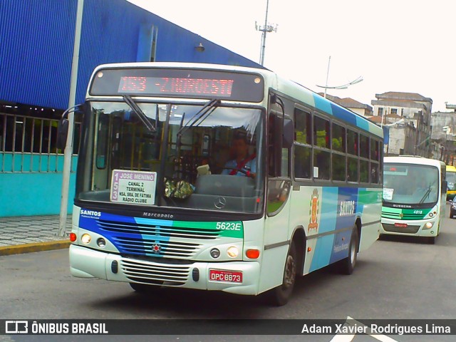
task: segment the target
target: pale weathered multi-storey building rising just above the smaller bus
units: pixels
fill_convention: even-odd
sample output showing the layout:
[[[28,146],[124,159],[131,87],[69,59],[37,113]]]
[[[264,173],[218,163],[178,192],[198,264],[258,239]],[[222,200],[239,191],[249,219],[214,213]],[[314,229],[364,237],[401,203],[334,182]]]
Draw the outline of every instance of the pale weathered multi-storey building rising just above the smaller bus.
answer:
[[[389,127],[385,155],[421,155],[431,157],[432,99],[417,93],[375,94],[375,122]]]

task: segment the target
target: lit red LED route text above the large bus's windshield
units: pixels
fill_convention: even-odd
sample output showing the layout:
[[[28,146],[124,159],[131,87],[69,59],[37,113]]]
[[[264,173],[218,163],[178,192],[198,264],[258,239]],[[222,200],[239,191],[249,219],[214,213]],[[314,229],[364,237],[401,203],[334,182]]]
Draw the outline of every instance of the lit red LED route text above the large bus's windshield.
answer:
[[[120,78],[118,92],[212,95],[219,98],[229,98],[232,95],[233,83],[234,80],[207,78],[123,76]]]

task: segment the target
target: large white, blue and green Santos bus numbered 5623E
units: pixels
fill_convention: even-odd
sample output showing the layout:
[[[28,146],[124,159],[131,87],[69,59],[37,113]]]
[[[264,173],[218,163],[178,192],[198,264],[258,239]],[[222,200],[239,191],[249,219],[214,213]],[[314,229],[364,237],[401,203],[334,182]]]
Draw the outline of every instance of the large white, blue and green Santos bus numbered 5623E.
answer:
[[[83,104],[71,274],[258,295],[378,239],[383,131],[264,69],[123,63]]]

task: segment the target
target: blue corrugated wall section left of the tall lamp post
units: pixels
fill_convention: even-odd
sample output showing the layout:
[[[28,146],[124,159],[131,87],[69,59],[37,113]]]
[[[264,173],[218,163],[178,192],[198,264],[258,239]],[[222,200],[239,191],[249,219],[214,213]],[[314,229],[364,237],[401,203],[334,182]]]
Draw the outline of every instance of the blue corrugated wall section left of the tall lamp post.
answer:
[[[0,1],[0,100],[68,105],[76,1]]]

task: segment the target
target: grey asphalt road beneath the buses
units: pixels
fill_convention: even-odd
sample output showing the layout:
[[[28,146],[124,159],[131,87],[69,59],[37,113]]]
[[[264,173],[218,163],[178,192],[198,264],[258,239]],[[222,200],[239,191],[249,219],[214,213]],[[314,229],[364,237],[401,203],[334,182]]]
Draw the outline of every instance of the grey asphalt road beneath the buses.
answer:
[[[177,289],[144,296],[136,294],[128,284],[73,278],[69,274],[66,249],[19,254],[0,257],[0,319],[455,318],[455,260],[456,219],[445,218],[434,245],[410,238],[380,239],[358,255],[351,276],[331,269],[316,271],[297,281],[289,304],[276,308],[268,306],[261,296]],[[0,341],[38,341],[38,337],[14,336],[8,340],[0,336]],[[268,341],[284,341],[283,337],[269,336]],[[325,336],[314,337],[306,341],[331,340]],[[155,336],[154,341],[190,341],[184,336],[162,338]],[[303,336],[296,338],[303,341]],[[375,341],[367,336],[357,336],[353,341],[363,341],[362,338]],[[73,339],[76,341],[76,336]],[[295,341],[291,336],[286,339]],[[397,340],[430,341],[418,336],[398,336]],[[453,340],[454,336],[432,338],[432,341]],[[97,341],[125,341],[125,338],[116,340],[110,336],[109,340],[98,338]],[[137,336],[135,341],[150,340]],[[199,336],[192,341],[214,341],[214,338]],[[219,337],[217,341],[225,339]],[[232,338],[226,336],[226,341]],[[248,341],[265,340],[254,336]]]

